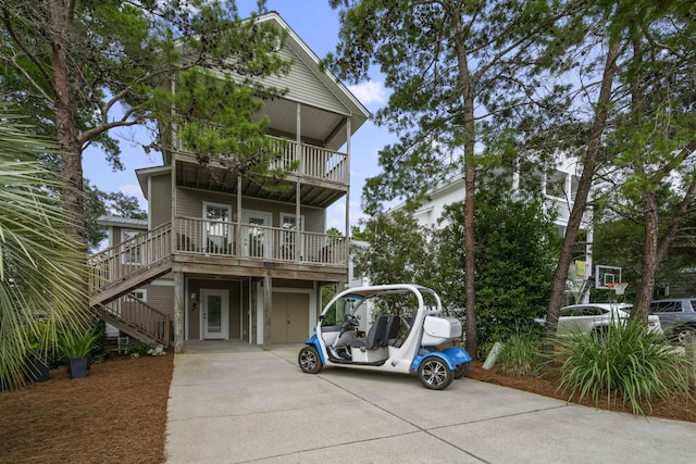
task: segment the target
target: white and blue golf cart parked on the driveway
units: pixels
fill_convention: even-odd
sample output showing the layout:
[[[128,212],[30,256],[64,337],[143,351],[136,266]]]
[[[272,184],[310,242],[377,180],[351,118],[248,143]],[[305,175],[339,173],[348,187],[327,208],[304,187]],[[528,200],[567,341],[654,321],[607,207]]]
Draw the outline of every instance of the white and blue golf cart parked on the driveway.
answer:
[[[445,317],[439,297],[425,287],[344,290],[326,305],[314,330],[298,355],[309,374],[323,366],[417,374],[426,388],[442,390],[469,372],[471,356],[453,343],[461,323]]]

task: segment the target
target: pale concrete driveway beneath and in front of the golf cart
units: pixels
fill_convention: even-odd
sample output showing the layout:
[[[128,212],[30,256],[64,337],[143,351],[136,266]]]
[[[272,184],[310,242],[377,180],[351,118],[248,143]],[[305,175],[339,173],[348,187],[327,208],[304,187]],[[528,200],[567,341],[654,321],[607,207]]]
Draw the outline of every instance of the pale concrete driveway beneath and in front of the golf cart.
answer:
[[[303,374],[300,344],[187,346],[174,359],[169,463],[693,463],[696,424],[567,404],[471,379]]]

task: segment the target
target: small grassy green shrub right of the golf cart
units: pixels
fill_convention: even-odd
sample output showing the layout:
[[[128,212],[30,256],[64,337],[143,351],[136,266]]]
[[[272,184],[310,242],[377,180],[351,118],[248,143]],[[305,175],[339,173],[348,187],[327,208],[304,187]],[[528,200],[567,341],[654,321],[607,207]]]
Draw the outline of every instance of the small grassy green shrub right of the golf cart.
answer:
[[[532,334],[512,335],[498,353],[497,364],[506,375],[537,377],[544,365],[542,342]]]

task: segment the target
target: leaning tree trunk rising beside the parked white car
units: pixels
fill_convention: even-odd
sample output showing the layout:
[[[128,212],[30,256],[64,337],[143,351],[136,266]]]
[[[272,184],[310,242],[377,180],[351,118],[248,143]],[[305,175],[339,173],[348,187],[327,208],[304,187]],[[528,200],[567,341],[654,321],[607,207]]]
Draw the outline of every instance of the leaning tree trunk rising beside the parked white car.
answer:
[[[560,313],[563,301],[563,292],[566,290],[566,279],[568,278],[568,268],[570,267],[577,238],[577,230],[582,222],[585,208],[587,205],[587,197],[597,168],[597,156],[599,153],[599,142],[607,126],[607,117],[609,114],[609,105],[611,102],[612,81],[617,73],[617,58],[619,55],[619,42],[611,43],[607,52],[604,75],[601,78],[601,87],[599,89],[599,99],[597,101],[597,110],[595,112],[595,121],[592,125],[592,133],[587,141],[587,150],[585,161],[583,163],[583,173],[577,185],[577,193],[573,202],[573,209],[568,220],[566,236],[563,237],[563,246],[561,248],[556,274],[554,275],[554,284],[551,286],[551,294],[546,308],[546,335],[551,337],[556,334],[558,326],[558,315]],[[548,348],[548,347],[547,347]]]

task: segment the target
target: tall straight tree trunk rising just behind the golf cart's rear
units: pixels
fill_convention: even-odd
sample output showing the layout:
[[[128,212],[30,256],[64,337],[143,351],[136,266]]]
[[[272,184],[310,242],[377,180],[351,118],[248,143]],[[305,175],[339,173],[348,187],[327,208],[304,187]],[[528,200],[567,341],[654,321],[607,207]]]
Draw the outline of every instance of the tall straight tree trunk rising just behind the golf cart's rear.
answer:
[[[478,350],[478,336],[476,333],[476,296],[475,296],[475,240],[474,240],[474,212],[476,195],[476,165],[474,158],[474,143],[476,133],[474,126],[474,91],[469,73],[467,50],[464,49],[464,34],[461,25],[461,15],[456,12],[455,18],[455,48],[457,50],[457,65],[459,67],[459,84],[462,88],[463,101],[463,131],[464,131],[464,292],[467,294],[465,306],[465,348],[476,356]]]

